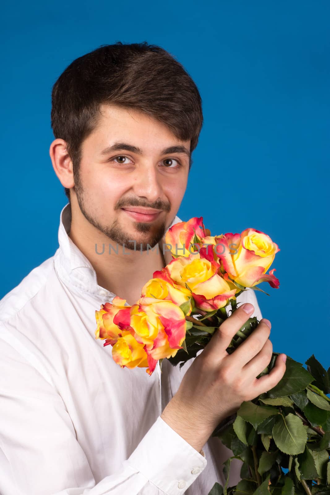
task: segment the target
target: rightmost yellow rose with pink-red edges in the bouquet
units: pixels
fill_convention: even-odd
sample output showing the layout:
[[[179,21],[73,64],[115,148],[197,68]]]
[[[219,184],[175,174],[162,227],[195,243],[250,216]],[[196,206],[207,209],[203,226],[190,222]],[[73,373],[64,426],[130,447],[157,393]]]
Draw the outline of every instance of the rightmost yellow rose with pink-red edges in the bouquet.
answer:
[[[279,288],[280,282],[273,275],[275,268],[266,274],[275,254],[280,251],[267,234],[255,229],[245,229],[241,234],[224,234],[215,239],[222,244],[215,247],[215,252],[225,279],[231,279],[243,287],[269,282],[271,287]]]

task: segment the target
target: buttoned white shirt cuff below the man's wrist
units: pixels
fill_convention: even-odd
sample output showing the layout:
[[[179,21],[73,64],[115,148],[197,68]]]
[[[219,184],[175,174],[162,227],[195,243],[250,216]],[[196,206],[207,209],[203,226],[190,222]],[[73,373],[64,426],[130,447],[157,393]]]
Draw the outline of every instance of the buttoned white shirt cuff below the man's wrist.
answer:
[[[182,495],[205,469],[201,452],[158,416],[126,462],[166,494]]]

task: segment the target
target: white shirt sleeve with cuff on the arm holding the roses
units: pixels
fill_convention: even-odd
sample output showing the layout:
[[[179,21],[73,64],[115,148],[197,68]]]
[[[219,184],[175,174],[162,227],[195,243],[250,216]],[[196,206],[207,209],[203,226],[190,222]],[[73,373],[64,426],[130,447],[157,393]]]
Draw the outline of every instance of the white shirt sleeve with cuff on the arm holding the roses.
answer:
[[[121,469],[96,484],[61,396],[1,337],[0,353],[1,495],[181,495],[205,468],[159,416]]]

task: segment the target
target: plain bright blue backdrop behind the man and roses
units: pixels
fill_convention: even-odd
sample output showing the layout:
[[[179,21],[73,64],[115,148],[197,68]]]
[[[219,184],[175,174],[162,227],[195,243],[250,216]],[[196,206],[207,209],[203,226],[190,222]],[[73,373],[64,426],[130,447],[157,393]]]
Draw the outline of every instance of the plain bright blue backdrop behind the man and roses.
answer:
[[[2,17],[0,297],[58,247],[67,199],[49,157],[52,85],[100,45],[147,41],[203,100],[179,217],[271,236],[281,286],[257,297],[273,350],[328,368],[330,3],[16,1]]]

